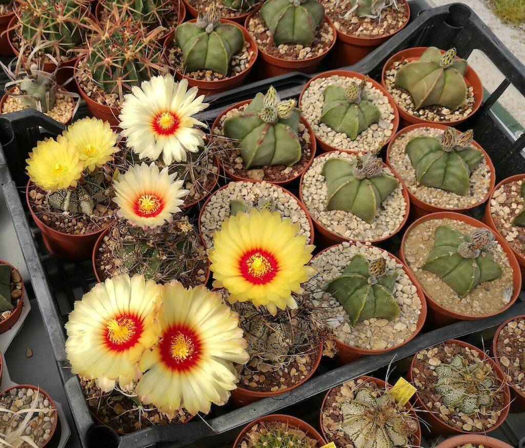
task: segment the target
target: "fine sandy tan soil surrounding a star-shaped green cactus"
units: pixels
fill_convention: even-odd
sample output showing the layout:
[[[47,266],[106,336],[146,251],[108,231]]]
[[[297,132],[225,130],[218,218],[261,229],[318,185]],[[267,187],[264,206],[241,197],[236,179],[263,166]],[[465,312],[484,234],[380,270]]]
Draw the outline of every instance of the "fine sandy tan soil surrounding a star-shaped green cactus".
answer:
[[[432,219],[413,228],[405,239],[404,253],[409,268],[414,272],[426,295],[447,310],[464,315],[496,313],[506,306],[512,296],[512,268],[506,253],[499,244],[492,249],[492,256],[500,264],[503,274],[499,279],[478,284],[465,297],[457,293],[436,274],[421,266],[426,261],[434,244],[434,232],[445,225],[463,233],[470,233],[475,227],[453,219]]]

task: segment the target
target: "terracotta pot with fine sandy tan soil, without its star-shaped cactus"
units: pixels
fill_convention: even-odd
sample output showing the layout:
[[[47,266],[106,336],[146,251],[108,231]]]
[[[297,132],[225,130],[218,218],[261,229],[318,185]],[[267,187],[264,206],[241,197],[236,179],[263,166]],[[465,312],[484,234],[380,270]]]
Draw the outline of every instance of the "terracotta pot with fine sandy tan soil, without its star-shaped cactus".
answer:
[[[427,304],[430,308],[430,318],[428,321],[432,323],[434,327],[439,328],[459,320],[474,320],[495,316],[507,310],[514,302],[516,302],[518,294],[521,291],[521,273],[519,264],[505,239],[501,238],[497,233],[491,232],[497,242],[496,247],[493,249],[486,249],[484,247],[482,249],[488,250],[493,256],[496,256],[499,259],[496,263],[500,266],[502,275],[499,278],[493,278],[486,281],[491,281],[491,283],[485,285],[477,284],[475,287],[468,290],[467,294],[460,297],[459,293],[453,289],[453,286],[450,286],[441,280],[437,274],[423,270],[421,265],[427,261],[428,253],[431,249],[430,244],[434,243],[435,228],[439,225],[438,223],[427,224],[427,221],[432,220],[448,220],[444,223],[445,227],[449,227],[455,231],[457,230],[463,234],[470,233],[476,229],[489,229],[489,227],[470,216],[442,211],[425,215],[417,219],[406,230],[403,240],[401,241],[400,258],[412,273],[414,273],[413,269],[417,268],[417,273],[414,275],[419,286],[421,286],[421,289],[425,293]],[[418,229],[419,226],[423,227]],[[460,230],[463,228],[466,230]],[[415,232],[413,236],[411,235],[412,232]],[[445,237],[440,237],[440,241],[442,241],[442,238]],[[421,244],[422,241],[428,241],[428,243],[425,243],[427,247],[424,247]],[[407,248],[408,244],[411,244],[412,246]],[[439,244],[439,246],[441,246],[441,244]],[[457,250],[460,251],[459,248]],[[493,267],[493,265],[491,267]],[[508,284],[507,282],[512,282],[512,284]],[[454,282],[454,286],[459,289],[459,287],[463,285],[458,285],[457,282]],[[489,290],[485,290],[487,294],[491,291],[492,292],[491,295],[485,296],[485,300],[482,300],[484,297],[476,295],[475,293],[479,293],[484,286],[489,287]],[[463,294],[463,290],[460,291],[461,294]],[[469,302],[469,295],[471,296],[471,303]],[[503,301],[504,296],[505,301]],[[442,302],[438,302],[437,297],[439,297]],[[445,305],[445,302],[448,300],[447,297],[450,298],[450,303],[456,307],[456,310]],[[462,297],[467,298],[465,301],[460,301],[460,298]],[[475,313],[479,308],[480,301],[487,307],[493,307],[496,298],[500,299],[502,305],[499,309],[491,309],[486,314]],[[497,304],[500,302],[497,302]],[[470,314],[461,312],[465,310],[467,305],[472,309]]]

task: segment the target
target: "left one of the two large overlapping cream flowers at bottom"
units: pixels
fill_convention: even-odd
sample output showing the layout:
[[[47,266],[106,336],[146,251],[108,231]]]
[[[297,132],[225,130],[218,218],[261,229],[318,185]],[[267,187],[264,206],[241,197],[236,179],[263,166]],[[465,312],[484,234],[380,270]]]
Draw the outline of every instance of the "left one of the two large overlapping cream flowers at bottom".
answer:
[[[66,324],[66,354],[73,373],[110,391],[130,389],[138,362],[159,340],[162,286],[143,275],[123,274],[98,283],[75,302]]]

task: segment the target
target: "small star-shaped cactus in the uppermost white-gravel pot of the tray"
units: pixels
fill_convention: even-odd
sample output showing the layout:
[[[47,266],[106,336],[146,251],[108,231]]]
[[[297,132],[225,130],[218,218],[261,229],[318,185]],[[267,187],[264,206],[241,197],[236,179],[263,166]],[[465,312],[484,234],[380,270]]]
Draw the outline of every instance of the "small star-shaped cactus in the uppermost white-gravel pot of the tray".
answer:
[[[325,88],[321,123],[355,140],[372,123],[380,121],[381,111],[371,101],[366,101],[364,87],[367,81],[365,77],[359,85],[352,82],[346,89],[341,86]]]

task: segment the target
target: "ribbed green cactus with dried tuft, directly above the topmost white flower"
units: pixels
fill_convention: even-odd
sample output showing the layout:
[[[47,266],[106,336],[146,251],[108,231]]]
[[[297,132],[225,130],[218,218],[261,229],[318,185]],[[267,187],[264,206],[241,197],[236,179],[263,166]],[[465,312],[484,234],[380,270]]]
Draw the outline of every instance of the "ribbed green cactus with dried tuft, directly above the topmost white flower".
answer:
[[[244,35],[238,26],[220,23],[212,3],[195,23],[177,26],[175,42],[182,50],[185,71],[212,70],[226,76],[232,56],[244,47]]]

